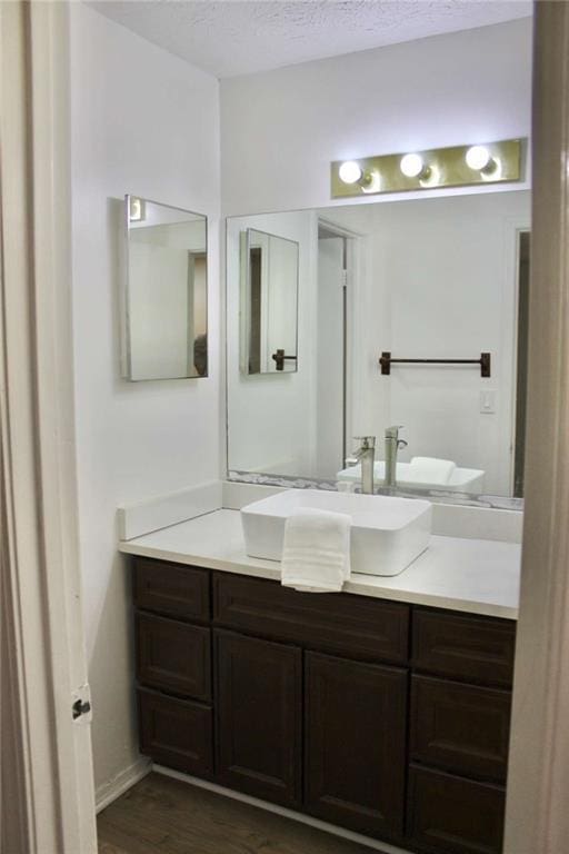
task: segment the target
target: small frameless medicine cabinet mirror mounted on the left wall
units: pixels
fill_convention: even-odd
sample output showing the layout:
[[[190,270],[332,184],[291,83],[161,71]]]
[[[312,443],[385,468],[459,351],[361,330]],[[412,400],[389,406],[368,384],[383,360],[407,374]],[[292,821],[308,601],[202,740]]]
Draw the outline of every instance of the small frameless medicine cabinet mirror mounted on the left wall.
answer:
[[[133,196],[124,216],[123,377],[207,377],[207,218]]]

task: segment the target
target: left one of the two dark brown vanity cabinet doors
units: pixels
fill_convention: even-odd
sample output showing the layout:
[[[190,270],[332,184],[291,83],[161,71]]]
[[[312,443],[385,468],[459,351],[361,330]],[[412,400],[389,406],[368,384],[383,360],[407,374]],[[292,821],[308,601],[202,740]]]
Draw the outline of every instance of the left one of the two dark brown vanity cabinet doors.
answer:
[[[220,783],[267,801],[300,803],[302,654],[214,632]]]

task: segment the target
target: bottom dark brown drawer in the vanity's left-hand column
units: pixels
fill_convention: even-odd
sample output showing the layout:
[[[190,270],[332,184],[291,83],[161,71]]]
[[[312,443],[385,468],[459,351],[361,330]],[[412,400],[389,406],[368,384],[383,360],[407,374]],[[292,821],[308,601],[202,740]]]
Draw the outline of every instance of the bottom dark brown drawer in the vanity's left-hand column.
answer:
[[[139,688],[140,751],[199,777],[213,774],[213,725],[208,706]]]

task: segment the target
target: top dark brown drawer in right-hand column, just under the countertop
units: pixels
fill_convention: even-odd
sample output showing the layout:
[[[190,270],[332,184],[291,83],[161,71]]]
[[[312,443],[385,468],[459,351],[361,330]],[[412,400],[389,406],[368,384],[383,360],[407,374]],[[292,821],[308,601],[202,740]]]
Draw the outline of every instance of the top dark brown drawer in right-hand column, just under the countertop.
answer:
[[[441,676],[511,686],[516,627],[510,620],[413,612],[413,666]]]

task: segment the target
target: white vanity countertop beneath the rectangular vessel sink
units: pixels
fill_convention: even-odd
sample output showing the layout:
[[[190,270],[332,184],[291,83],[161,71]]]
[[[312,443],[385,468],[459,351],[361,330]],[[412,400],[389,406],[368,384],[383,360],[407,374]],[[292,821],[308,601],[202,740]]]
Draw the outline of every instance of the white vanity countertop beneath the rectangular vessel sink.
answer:
[[[130,555],[207,569],[280,579],[279,563],[247,555],[238,510],[216,510],[136,539],[122,540],[119,549]],[[521,546],[516,543],[432,536],[427,552],[400,575],[352,574],[343,590],[516,619],[520,559]]]

